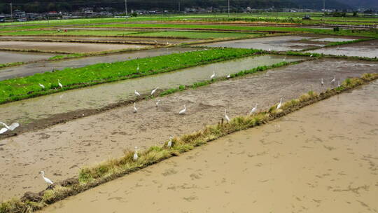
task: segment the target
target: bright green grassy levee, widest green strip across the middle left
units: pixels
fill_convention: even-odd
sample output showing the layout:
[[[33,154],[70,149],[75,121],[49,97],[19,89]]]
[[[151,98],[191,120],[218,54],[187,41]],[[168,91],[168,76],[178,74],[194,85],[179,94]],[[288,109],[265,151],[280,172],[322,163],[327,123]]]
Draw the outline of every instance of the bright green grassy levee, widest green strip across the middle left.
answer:
[[[261,50],[214,48],[125,62],[92,64],[81,68],[66,68],[43,74],[34,74],[33,76],[13,78],[0,81],[0,91],[2,91],[0,104],[47,95],[62,90],[82,88],[127,78],[138,78],[260,53],[262,53]],[[139,70],[137,70],[138,66]],[[59,88],[58,79],[64,85],[64,88]],[[45,88],[41,88],[38,83],[43,84]]]

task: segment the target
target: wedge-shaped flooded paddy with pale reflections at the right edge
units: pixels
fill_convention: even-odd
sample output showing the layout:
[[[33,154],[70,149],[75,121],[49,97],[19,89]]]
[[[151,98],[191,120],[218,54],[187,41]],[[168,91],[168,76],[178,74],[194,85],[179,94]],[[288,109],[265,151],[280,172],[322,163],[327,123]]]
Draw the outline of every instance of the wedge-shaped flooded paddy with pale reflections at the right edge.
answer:
[[[378,57],[378,39],[349,43],[342,46],[332,46],[318,50],[309,50],[311,53],[323,53],[325,55],[346,55],[358,57]]]

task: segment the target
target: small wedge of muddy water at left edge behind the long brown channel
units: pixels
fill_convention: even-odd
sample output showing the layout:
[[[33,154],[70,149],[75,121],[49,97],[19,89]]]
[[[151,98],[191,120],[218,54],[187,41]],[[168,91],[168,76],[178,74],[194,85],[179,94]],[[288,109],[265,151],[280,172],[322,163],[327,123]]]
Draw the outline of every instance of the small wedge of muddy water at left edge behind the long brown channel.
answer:
[[[0,64],[12,62],[34,62],[38,60],[46,60],[54,55],[56,54],[0,51]]]

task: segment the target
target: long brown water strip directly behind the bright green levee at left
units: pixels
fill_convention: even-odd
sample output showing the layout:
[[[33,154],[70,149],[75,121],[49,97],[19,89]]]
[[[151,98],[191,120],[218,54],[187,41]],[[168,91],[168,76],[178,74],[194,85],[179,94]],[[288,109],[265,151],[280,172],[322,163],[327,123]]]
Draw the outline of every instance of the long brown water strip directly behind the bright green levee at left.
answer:
[[[127,53],[115,53],[110,55],[100,55],[92,57],[82,57],[71,60],[61,61],[42,61],[32,64],[25,64],[18,67],[8,67],[0,69],[0,81],[22,76],[31,76],[36,73],[44,73],[52,70],[64,69],[66,67],[78,68],[85,67],[90,64],[121,62],[125,60],[133,60],[142,57],[154,57],[158,55],[169,55],[172,53],[183,53],[197,50],[196,48],[155,48],[151,50],[138,50]],[[37,54],[38,55],[38,54]]]

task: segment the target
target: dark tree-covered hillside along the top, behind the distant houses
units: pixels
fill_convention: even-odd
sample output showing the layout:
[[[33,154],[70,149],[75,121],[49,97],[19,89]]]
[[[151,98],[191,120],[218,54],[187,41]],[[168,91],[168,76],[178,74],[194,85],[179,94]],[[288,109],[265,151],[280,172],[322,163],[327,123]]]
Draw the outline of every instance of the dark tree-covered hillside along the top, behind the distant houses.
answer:
[[[13,3],[13,9],[27,11],[27,13],[43,13],[48,11],[77,11],[84,7],[112,7],[117,11],[125,9],[124,0],[2,0],[0,3],[0,13],[10,12],[10,2]],[[321,0],[230,0],[232,8],[251,7],[251,8],[323,8]],[[128,0],[127,8],[130,10],[170,10],[181,11],[183,8],[192,7],[214,7],[225,8],[228,6],[228,0]],[[350,6],[339,3],[335,0],[326,1],[327,8],[349,9]]]

